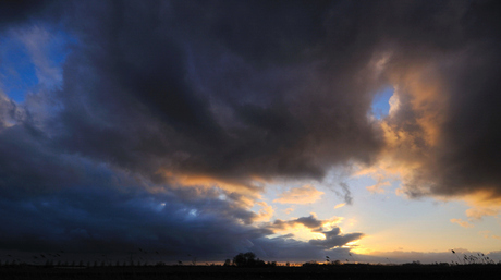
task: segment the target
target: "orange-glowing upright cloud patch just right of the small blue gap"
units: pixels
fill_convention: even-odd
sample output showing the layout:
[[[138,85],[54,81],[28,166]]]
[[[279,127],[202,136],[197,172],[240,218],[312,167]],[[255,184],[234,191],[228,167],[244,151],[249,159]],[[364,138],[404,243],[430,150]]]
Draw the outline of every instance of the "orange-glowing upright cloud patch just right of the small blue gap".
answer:
[[[378,184],[368,187],[383,192],[381,172],[398,175],[401,192],[411,196],[429,194],[425,181],[430,168],[430,153],[440,139],[440,126],[447,112],[444,92],[431,65],[416,65],[406,72],[390,74],[395,92],[390,99],[390,114],[380,123],[387,147],[380,154],[376,170]]]

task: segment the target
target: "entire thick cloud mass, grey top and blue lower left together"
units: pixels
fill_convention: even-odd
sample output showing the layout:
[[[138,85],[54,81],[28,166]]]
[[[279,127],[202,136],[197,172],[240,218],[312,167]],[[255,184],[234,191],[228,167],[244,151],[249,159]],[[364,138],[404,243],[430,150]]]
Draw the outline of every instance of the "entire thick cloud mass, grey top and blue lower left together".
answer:
[[[269,230],[250,226],[255,214],[242,206],[241,194],[196,184],[179,188],[176,178],[211,178],[257,192],[256,178],[322,180],[333,166],[376,165],[389,150],[395,162],[420,163],[405,180],[412,195],[487,190],[499,197],[499,5],[9,7],[0,32],[64,28],[76,42],[60,88],[26,96],[23,104],[0,96],[0,222],[8,226],[0,233],[2,247],[140,245],[206,256],[260,247],[268,256],[321,256],[323,247],[362,234],[342,240],[331,231],[309,243],[269,240]],[[416,107],[407,77],[420,71],[418,81],[426,84],[427,68],[429,81],[440,84],[433,96],[441,98]],[[388,144],[382,121],[368,118],[375,94],[389,84],[399,87],[400,107],[382,121],[413,135],[396,148]],[[440,111],[440,121],[424,118],[430,110],[423,108]],[[423,123],[440,132],[432,144],[423,136]],[[155,187],[168,191],[154,195]],[[341,191],[352,199],[347,187]]]

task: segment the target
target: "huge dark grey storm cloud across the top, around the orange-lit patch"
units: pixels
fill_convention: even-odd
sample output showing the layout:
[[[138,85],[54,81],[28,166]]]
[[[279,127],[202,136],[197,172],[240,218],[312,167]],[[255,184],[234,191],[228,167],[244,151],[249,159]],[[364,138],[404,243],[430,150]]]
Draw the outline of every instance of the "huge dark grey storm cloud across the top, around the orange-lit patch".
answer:
[[[30,3],[14,7],[19,16],[9,21],[24,19]],[[438,162],[433,173],[443,176],[421,173],[436,182],[432,192],[499,190],[499,157],[491,153],[499,138],[494,110],[500,101],[492,94],[499,72],[498,5],[66,4],[62,16],[81,46],[64,65],[62,130],[56,141],[69,153],[158,182],[164,180],[159,169],[241,182],[252,175],[321,179],[332,165],[371,163],[383,148],[377,124],[366,114],[389,72],[453,57],[442,74],[451,95],[440,127],[444,151],[432,159]],[[384,51],[392,53],[390,66],[370,78],[367,65]],[[405,113],[416,118],[410,110],[400,115]],[[465,135],[467,141],[455,141]]]

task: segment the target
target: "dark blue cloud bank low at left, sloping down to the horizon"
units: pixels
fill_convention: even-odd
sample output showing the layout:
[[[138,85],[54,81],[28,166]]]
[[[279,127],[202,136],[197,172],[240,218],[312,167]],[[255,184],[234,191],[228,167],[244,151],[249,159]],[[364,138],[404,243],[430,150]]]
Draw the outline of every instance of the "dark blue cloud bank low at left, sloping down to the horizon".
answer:
[[[95,260],[100,254],[114,260],[136,252],[148,261],[186,254],[223,260],[247,251],[282,259],[323,254],[305,242],[267,239],[272,231],[249,226],[256,214],[242,208],[237,194],[198,186],[151,193],[145,180],[63,154],[26,117],[16,120],[0,134],[0,247],[5,252],[64,251],[63,260]],[[295,222],[319,224],[314,217]]]

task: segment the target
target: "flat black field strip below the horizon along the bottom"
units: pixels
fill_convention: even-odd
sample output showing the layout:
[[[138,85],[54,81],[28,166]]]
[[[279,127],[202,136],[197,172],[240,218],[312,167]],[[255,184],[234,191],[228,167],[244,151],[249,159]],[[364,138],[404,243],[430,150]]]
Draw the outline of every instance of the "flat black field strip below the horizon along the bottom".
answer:
[[[501,265],[239,268],[222,266],[164,267],[1,267],[0,279],[500,279]]]

